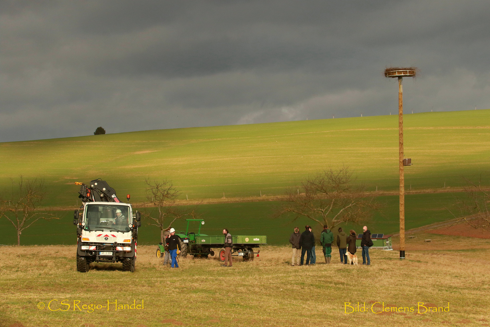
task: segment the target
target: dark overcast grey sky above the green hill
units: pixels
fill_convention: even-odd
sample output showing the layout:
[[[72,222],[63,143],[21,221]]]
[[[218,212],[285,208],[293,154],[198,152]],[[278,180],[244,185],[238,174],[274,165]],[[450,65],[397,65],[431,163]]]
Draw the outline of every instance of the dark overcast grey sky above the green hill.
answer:
[[[490,108],[490,1],[0,2],[0,142]]]

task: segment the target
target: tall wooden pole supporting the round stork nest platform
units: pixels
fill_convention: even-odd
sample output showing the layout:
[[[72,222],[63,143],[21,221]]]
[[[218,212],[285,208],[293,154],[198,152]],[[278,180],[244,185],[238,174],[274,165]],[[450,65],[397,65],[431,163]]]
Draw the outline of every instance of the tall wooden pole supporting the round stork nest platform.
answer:
[[[405,176],[403,175],[403,88],[398,76],[398,161],[400,172],[400,259],[405,259]]]

